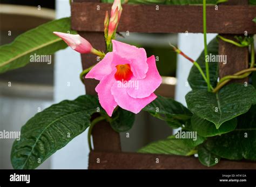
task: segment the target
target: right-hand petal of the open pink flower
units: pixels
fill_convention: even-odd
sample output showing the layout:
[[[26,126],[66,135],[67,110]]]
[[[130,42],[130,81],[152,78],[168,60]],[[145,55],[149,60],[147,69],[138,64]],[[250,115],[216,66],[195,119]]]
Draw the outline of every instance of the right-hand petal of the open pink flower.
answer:
[[[147,64],[149,65],[149,71],[146,73],[144,79],[131,78],[136,84],[127,88],[127,93],[132,98],[146,98],[150,96],[161,84],[161,76],[157,70],[156,59],[154,56],[147,58]],[[137,81],[137,82],[136,82]],[[136,87],[134,85],[137,85]]]

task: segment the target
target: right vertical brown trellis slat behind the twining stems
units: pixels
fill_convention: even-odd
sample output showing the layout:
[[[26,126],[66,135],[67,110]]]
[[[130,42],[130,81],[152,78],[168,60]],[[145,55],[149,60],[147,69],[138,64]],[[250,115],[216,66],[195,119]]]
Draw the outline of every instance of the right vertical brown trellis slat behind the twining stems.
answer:
[[[237,1],[237,0],[230,0],[226,4],[228,5],[246,5],[248,4],[248,1]],[[256,27],[256,26],[254,26]],[[245,30],[246,31],[246,30]],[[235,35],[232,34],[224,34],[222,35],[225,38],[228,39],[234,39]],[[219,54],[225,55],[227,57],[227,63],[219,64],[219,77],[223,78],[226,75],[232,75],[236,72],[239,72],[241,70],[244,70],[248,68],[248,47],[237,47],[233,44],[227,43],[223,40],[219,40]],[[248,81],[248,78],[245,79],[238,79],[238,80],[232,80],[231,82],[241,82],[244,83],[245,81]],[[230,82],[230,83],[231,83]]]

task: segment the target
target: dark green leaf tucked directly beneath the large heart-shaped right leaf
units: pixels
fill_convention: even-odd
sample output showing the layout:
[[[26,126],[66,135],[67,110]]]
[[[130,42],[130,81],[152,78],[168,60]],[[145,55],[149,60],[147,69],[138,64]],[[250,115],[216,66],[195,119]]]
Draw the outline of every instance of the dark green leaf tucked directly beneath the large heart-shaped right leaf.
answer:
[[[191,118],[191,126],[200,136],[209,137],[228,133],[237,127],[237,118],[224,122],[219,129],[216,129],[214,123],[201,119],[197,115]]]

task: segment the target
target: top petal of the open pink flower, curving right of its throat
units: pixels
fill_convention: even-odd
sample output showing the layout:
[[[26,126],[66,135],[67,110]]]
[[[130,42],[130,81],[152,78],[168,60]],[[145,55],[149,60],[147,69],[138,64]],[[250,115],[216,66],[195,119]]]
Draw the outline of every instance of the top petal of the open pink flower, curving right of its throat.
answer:
[[[113,52],[119,56],[131,60],[131,70],[138,79],[144,79],[149,69],[147,65],[147,54],[143,48],[112,40]]]

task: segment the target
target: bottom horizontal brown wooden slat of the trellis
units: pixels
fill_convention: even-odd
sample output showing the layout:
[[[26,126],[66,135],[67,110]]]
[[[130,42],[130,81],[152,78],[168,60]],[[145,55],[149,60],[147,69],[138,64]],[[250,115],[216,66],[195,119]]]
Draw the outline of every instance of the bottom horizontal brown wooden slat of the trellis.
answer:
[[[98,159],[99,158],[99,159]],[[156,158],[159,163],[156,163]],[[97,162],[99,161],[99,163]],[[255,169],[255,162],[221,160],[214,167],[206,167],[198,158],[176,155],[138,153],[110,153],[92,151],[89,169]]]

